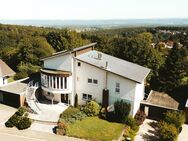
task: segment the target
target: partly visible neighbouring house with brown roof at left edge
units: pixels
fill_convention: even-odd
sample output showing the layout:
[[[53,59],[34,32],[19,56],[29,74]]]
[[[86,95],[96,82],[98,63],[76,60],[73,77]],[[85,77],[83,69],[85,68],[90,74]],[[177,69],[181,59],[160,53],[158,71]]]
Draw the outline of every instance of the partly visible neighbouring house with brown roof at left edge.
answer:
[[[8,78],[13,76],[15,72],[0,59],[0,87],[8,83]]]

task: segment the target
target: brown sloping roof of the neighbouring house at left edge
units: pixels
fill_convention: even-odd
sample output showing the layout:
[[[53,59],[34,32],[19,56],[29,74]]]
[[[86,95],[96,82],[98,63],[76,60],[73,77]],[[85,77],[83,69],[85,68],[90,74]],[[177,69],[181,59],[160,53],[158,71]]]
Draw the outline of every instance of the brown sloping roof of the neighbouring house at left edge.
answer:
[[[5,77],[5,76],[12,76],[14,75],[15,72],[5,63],[0,59],[0,76]]]

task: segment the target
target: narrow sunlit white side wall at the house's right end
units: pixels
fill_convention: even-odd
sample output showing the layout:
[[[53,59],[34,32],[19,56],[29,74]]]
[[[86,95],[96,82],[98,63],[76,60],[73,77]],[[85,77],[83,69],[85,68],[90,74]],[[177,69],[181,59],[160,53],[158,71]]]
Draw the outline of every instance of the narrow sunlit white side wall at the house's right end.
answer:
[[[133,116],[136,114],[138,109],[140,108],[140,102],[144,99],[144,82],[141,84],[136,84],[136,92],[134,98],[134,108],[133,108]]]

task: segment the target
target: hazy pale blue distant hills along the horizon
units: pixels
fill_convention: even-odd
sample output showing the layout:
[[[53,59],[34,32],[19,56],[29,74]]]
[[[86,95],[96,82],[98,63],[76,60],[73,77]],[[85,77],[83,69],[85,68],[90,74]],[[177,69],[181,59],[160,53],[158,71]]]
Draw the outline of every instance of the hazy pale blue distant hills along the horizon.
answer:
[[[188,26],[188,19],[127,19],[127,20],[0,20],[2,24],[44,27],[119,28],[148,26]]]

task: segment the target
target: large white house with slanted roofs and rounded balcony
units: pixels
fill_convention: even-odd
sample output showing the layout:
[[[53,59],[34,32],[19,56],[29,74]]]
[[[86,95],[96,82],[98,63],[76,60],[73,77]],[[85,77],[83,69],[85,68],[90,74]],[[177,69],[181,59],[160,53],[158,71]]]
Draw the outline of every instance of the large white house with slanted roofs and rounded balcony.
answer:
[[[43,95],[53,101],[74,105],[96,100],[112,105],[117,100],[131,104],[134,116],[144,99],[148,68],[94,50],[96,43],[61,51],[41,59]]]

